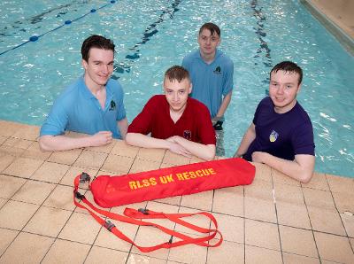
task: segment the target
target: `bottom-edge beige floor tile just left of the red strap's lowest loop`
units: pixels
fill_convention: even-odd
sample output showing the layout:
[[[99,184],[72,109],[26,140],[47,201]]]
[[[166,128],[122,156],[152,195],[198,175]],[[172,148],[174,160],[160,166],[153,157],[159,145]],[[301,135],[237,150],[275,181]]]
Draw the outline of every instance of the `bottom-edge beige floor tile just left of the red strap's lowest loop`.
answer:
[[[119,252],[116,250],[94,246],[91,248],[85,264],[123,264],[127,260],[127,252]]]

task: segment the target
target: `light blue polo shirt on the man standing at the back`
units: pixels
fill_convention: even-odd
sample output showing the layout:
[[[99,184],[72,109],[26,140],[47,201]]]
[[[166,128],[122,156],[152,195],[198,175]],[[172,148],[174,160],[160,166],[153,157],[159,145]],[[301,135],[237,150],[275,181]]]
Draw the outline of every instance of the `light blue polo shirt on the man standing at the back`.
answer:
[[[191,97],[206,105],[212,118],[216,116],[225,97],[234,87],[234,63],[221,50],[206,64],[196,50],[183,58],[182,66],[189,71],[192,81]]]

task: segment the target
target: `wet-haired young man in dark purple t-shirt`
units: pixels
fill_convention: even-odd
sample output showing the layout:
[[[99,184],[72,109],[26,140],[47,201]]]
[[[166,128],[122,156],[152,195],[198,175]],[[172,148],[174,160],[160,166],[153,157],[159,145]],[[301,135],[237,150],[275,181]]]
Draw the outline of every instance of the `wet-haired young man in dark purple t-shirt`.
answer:
[[[265,163],[300,182],[309,182],[315,165],[312,123],[296,101],[303,71],[283,61],[270,73],[269,97],[258,105],[235,157]]]

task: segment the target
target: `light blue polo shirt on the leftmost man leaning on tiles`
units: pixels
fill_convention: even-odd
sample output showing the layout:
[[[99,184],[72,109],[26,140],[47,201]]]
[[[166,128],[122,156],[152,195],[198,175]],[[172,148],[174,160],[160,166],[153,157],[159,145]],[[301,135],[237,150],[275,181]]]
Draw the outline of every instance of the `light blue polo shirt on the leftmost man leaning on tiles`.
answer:
[[[89,135],[111,131],[114,138],[120,139],[117,121],[126,118],[123,97],[119,82],[110,79],[106,84],[106,101],[102,109],[82,76],[58,97],[40,135],[57,136],[64,134],[65,130]]]

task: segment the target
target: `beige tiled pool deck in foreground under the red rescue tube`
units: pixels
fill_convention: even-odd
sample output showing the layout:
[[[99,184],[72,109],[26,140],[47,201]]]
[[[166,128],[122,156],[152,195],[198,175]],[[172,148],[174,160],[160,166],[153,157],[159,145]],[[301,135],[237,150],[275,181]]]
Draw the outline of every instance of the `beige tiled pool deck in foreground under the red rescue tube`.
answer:
[[[165,213],[212,212],[225,239],[217,248],[185,245],[142,253],[73,205],[74,176],[122,175],[198,159],[119,140],[42,152],[38,133],[39,127],[0,120],[0,263],[354,263],[354,178],[315,173],[302,184],[255,163],[249,186],[129,205]],[[121,214],[125,207],[112,211]],[[209,227],[202,217],[190,221]],[[169,239],[152,228],[119,224],[119,229],[140,245]]]

